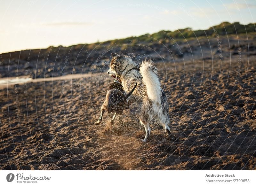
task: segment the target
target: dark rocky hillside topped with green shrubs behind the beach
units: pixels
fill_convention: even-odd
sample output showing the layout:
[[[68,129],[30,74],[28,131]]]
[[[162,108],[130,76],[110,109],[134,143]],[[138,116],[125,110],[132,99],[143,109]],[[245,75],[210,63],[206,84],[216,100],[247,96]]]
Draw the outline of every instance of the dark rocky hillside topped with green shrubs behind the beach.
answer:
[[[111,52],[133,54],[136,58],[149,57],[156,62],[173,61],[175,58],[190,58],[193,52],[202,47],[205,47],[205,51],[209,50],[210,47],[217,50],[216,34],[222,39],[223,50],[236,50],[238,36],[244,41],[250,40],[250,38],[252,41],[256,38],[255,33],[255,23],[241,25],[239,22],[223,22],[207,30],[192,30],[191,28],[175,31],[161,30],[154,34],[115,39],[102,43],[77,44],[68,47],[50,46],[47,49],[8,52],[1,54],[0,76],[19,76],[26,72],[29,77],[36,78],[86,73],[93,70],[101,71],[109,60]],[[248,35],[250,38],[247,37]],[[233,37],[232,46],[227,39],[231,37]],[[212,42],[209,43],[209,39],[212,39]],[[240,47],[244,47],[244,50],[255,50],[254,45],[246,46],[248,41],[244,43],[239,42]],[[224,44],[226,44],[225,48]],[[197,52],[200,54],[201,51]],[[210,54],[213,51],[209,50],[209,52],[207,58],[212,58]],[[218,51],[215,54],[218,56]],[[67,66],[65,71],[63,71],[63,65]]]

